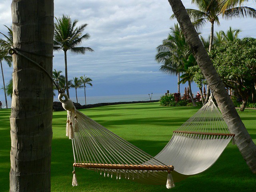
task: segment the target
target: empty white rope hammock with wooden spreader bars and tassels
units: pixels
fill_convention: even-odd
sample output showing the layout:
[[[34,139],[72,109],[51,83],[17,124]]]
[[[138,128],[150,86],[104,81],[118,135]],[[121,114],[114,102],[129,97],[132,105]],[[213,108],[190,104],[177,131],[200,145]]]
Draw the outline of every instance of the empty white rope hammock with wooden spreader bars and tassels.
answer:
[[[72,140],[73,166],[111,178],[114,175],[116,179],[166,184],[167,188],[172,188],[174,182],[212,166],[234,137],[211,96],[153,157],[76,110],[66,94],[58,98],[68,113],[66,136]],[[75,171],[72,185],[78,185]]]

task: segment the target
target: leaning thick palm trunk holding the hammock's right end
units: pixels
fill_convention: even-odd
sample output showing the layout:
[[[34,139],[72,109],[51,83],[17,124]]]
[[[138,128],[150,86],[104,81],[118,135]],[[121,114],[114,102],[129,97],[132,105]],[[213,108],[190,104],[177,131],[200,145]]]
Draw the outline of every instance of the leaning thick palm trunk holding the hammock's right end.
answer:
[[[234,139],[238,149],[252,172],[256,173],[256,146],[252,138],[248,134],[232,100],[226,92],[224,84],[221,82],[182,2],[180,0],[168,1],[172,6],[172,11],[180,24],[180,28],[188,42],[190,50],[196,58],[198,66],[202,70],[208,85],[210,85],[210,88],[214,91],[214,97],[223,114],[224,120],[228,124],[230,132],[236,134]]]

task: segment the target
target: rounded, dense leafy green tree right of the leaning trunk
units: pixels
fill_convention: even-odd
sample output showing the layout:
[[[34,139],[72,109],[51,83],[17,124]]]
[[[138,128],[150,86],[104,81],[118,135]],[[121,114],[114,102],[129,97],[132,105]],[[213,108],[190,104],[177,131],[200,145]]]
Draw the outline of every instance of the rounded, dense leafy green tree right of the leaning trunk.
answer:
[[[255,92],[256,39],[243,38],[222,44],[212,52],[212,62],[226,87],[236,90],[242,97],[240,111]]]

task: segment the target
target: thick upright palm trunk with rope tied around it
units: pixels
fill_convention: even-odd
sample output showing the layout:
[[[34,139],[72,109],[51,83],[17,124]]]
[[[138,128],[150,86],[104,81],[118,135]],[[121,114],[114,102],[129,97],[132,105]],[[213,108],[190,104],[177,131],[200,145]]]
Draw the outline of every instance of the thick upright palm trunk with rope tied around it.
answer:
[[[13,0],[11,7],[14,47],[52,74],[53,0]],[[22,56],[13,62],[10,192],[50,192],[52,81]]]

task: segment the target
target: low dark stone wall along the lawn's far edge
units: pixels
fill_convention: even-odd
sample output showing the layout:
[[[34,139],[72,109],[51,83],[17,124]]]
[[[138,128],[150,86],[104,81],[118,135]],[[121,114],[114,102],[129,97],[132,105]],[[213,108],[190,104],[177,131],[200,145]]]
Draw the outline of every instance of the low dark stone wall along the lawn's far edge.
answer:
[[[113,102],[113,103],[96,103],[96,104],[88,104],[88,105],[80,105],[79,103],[74,103],[76,109],[88,109],[100,106],[107,106],[107,105],[119,105],[119,104],[132,104],[132,103],[151,103],[151,102],[158,102],[159,100],[152,100],[152,101],[128,101],[128,102]],[[53,111],[64,111],[61,102],[53,102]]]

